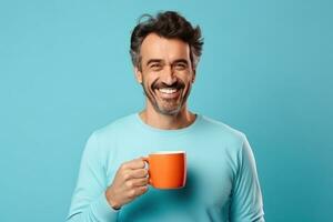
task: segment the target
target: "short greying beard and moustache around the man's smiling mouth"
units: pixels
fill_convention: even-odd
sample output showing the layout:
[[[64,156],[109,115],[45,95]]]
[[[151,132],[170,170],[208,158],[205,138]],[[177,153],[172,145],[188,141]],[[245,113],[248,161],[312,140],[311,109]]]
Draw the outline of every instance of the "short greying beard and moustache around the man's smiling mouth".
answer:
[[[188,88],[185,88],[185,83],[179,79],[171,85],[159,82],[159,80],[155,80],[151,85],[147,85],[143,80],[141,85],[145,97],[149,99],[154,110],[158,113],[165,115],[178,114],[186,103],[191,91],[191,83],[189,83]],[[160,89],[175,89],[175,93],[179,94],[174,98],[161,98]]]

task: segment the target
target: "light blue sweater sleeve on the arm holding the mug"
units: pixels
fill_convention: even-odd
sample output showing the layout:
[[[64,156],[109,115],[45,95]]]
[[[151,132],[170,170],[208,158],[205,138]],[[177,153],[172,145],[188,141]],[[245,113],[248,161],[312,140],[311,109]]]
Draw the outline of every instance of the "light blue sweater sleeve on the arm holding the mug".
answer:
[[[101,153],[95,133],[85,145],[80,172],[72,195],[67,222],[115,222],[119,211],[105,198],[105,155]]]

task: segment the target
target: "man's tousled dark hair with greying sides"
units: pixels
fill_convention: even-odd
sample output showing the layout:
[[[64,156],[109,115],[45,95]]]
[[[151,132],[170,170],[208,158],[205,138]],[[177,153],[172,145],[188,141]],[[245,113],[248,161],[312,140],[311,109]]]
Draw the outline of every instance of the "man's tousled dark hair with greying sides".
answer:
[[[145,21],[142,19],[147,18]],[[189,44],[190,58],[195,70],[199,62],[203,39],[200,27],[193,28],[191,23],[175,11],[160,12],[155,17],[143,14],[131,36],[130,54],[134,67],[141,70],[140,48],[144,38],[150,33],[157,33],[167,39],[180,39]]]

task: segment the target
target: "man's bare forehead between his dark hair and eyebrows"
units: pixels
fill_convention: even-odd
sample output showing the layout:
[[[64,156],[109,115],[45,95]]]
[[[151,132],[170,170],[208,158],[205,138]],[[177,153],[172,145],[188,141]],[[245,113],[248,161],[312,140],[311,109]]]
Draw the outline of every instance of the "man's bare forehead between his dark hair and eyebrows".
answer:
[[[155,33],[145,37],[141,44],[142,61],[160,59],[172,62],[178,59],[190,60],[190,47],[179,39],[167,39]]]

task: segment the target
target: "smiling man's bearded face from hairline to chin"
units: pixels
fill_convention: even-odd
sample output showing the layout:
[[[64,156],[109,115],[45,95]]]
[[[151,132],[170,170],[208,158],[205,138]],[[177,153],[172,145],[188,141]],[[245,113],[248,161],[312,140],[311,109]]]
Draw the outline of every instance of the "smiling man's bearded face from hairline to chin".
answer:
[[[147,36],[141,44],[141,71],[135,68],[138,82],[148,102],[162,114],[176,114],[184,108],[194,82],[190,47],[179,39]]]

